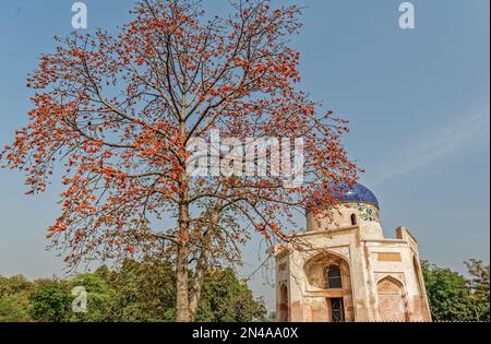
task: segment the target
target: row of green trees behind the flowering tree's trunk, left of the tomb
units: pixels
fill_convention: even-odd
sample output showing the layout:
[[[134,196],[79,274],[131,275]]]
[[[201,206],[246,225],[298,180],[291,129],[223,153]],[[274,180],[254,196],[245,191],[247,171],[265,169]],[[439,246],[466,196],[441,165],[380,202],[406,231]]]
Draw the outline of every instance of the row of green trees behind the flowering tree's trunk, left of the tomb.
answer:
[[[204,285],[196,321],[249,322],[266,319],[255,298],[232,270],[213,270]],[[117,269],[68,280],[0,277],[0,321],[8,322],[171,322],[176,316],[176,276],[170,263],[124,260]],[[74,287],[87,293],[87,312],[72,311]]]

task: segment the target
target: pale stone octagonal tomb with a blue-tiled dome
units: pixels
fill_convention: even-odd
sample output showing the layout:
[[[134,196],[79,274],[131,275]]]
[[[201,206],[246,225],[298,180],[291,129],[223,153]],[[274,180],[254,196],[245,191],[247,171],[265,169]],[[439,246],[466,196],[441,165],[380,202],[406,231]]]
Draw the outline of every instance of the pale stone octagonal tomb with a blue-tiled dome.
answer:
[[[431,321],[418,244],[405,227],[384,237],[373,192],[357,183],[326,211],[273,249],[277,320]]]

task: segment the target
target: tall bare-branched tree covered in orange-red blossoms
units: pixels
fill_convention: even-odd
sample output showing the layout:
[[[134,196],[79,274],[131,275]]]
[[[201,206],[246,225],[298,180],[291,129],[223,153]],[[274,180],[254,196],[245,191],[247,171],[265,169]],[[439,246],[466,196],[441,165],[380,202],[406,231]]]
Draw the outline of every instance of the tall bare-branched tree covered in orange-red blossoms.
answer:
[[[339,142],[346,121],[320,114],[298,90],[299,54],[287,39],[301,9],[266,0],[231,5],[229,17],[207,19],[195,1],[144,0],[117,35],[57,38],[28,78],[36,90],[29,123],[1,154],[27,175],[29,193],[43,192],[63,166],[62,211],[48,236],[70,266],[172,259],[177,321],[195,319],[207,269],[240,261],[250,228],[270,244],[288,240],[296,209],[325,209],[357,179]],[[214,130],[244,140],[301,138],[303,182],[285,187],[290,159],[266,164],[277,173],[242,176],[236,166],[190,175],[191,142],[212,143]],[[240,155],[232,144],[215,153],[225,170],[230,154]]]

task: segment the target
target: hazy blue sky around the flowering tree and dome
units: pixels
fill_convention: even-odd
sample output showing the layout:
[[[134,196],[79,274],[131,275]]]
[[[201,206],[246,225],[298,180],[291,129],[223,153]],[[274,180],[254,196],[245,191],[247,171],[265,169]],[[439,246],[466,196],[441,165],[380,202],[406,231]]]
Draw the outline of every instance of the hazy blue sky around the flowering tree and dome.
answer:
[[[0,5],[0,146],[26,123],[26,75],[52,36],[73,28],[70,0],[3,1]],[[85,0],[88,29],[127,22],[131,0]],[[276,1],[276,2],[279,2]],[[416,27],[399,27],[397,0],[288,0],[306,5],[292,45],[301,52],[301,87],[350,120],[344,143],[366,169],[361,182],[381,203],[387,237],[398,226],[418,238],[422,258],[464,271],[470,258],[489,262],[490,2],[411,1]],[[205,0],[209,13],[229,9]],[[47,251],[61,188],[24,195],[23,176],[0,170],[0,274],[63,276]],[[258,240],[244,248],[248,276],[264,259]],[[260,254],[261,253],[261,254]],[[274,307],[263,273],[251,281]]]

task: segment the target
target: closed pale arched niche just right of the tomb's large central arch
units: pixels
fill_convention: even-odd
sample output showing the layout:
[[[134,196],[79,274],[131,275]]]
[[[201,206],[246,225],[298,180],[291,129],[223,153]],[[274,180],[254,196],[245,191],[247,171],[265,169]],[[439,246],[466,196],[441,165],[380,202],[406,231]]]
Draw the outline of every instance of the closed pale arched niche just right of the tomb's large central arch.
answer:
[[[379,313],[381,321],[407,321],[406,296],[403,284],[387,276],[378,283],[376,289],[379,294]]]

